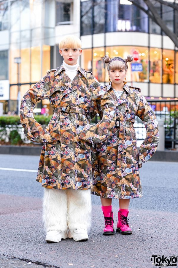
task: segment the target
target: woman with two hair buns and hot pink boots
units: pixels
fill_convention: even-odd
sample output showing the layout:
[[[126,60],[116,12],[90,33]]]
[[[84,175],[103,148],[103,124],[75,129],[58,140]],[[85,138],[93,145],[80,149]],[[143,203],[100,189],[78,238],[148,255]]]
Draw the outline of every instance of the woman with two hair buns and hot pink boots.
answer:
[[[119,199],[118,222],[116,231],[131,234],[128,224],[128,207],[131,198],[142,197],[142,186],[139,168],[155,153],[158,141],[158,121],[152,108],[147,103],[139,88],[127,84],[127,62],[121,57],[109,58],[105,55],[104,62],[108,63],[109,85],[105,86],[114,99],[116,106],[116,125],[107,142],[97,144],[93,149],[94,181],[92,194],[101,198],[101,208],[104,214],[104,235],[114,234],[112,199]],[[102,111],[100,117],[102,118]],[[147,135],[137,152],[136,133],[134,130],[135,116],[144,123]],[[152,193],[150,193],[152,194]]]

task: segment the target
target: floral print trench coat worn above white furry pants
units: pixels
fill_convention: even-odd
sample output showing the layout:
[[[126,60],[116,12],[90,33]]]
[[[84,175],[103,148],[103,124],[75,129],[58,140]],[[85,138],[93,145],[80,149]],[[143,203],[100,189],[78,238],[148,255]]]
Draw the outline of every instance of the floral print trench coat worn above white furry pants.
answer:
[[[33,116],[36,102],[45,98],[55,109],[48,127]],[[98,109],[103,111],[103,118],[91,125]],[[63,65],[48,71],[24,95],[20,121],[31,141],[43,142],[36,179],[42,186],[84,190],[92,186],[92,143],[100,143],[111,134],[115,105],[90,72],[79,66],[71,81]]]

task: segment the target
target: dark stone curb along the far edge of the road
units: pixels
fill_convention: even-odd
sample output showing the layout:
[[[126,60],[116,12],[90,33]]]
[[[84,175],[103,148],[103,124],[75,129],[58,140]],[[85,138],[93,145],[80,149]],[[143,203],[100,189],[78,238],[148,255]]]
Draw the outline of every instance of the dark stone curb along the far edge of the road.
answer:
[[[30,146],[13,146],[1,145],[0,154],[5,155],[38,155],[40,156],[42,145]],[[177,151],[156,151],[150,158],[150,161],[178,162]]]

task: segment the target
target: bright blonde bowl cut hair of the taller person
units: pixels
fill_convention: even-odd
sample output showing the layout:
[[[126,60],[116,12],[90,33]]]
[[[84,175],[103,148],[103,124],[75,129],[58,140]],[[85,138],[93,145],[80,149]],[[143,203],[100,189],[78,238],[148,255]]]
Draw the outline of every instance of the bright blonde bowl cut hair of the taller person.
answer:
[[[60,43],[59,43],[59,49],[63,48],[79,48],[81,49],[82,42],[81,40],[75,36],[75,35],[66,35],[64,36]]]

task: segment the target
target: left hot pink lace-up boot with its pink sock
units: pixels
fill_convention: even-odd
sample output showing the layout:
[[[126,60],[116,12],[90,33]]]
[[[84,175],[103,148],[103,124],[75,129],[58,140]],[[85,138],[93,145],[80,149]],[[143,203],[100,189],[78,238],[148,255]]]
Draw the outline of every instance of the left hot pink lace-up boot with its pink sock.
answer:
[[[102,206],[102,211],[104,214],[104,222],[105,222],[105,228],[103,230],[103,235],[112,235],[114,234],[114,227],[113,227],[113,212],[112,206]]]

